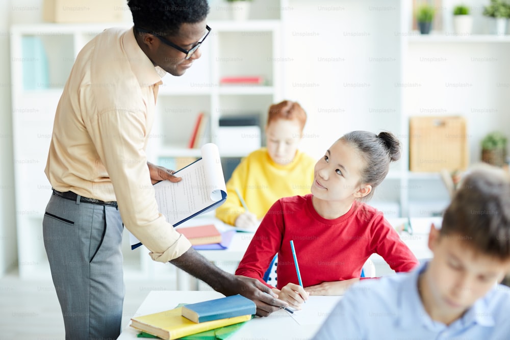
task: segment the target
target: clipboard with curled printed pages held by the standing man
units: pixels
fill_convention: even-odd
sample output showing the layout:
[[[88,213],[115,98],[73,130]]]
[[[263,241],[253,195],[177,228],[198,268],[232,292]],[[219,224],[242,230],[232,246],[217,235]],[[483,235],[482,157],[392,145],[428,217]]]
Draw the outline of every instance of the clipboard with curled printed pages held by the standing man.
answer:
[[[214,210],[226,199],[218,147],[205,144],[201,153],[201,158],[174,173],[182,177],[180,182],[162,180],[154,185],[158,210],[173,226]],[[132,233],[130,243],[131,249],[142,245]]]

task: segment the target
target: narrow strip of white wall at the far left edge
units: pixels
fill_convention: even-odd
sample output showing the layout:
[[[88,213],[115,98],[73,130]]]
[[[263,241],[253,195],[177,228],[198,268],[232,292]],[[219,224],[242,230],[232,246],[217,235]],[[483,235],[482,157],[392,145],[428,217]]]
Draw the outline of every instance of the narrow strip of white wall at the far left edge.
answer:
[[[0,275],[17,258],[11,119],[9,26],[11,2],[0,2]]]

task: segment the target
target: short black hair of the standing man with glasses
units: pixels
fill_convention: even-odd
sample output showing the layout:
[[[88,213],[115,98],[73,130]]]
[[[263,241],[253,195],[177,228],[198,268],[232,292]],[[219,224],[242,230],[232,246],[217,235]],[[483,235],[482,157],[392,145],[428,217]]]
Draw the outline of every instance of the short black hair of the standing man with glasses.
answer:
[[[205,20],[209,13],[207,0],[127,0],[136,28],[162,36],[179,33],[183,23]]]

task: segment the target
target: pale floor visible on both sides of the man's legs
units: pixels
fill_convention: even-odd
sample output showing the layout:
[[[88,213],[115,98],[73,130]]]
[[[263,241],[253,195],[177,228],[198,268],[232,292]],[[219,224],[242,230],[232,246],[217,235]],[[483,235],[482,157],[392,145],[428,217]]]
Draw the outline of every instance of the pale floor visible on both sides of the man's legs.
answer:
[[[151,290],[175,290],[166,281],[125,279],[122,329]],[[20,280],[16,273],[0,278],[0,340],[64,339],[64,321],[50,280]]]

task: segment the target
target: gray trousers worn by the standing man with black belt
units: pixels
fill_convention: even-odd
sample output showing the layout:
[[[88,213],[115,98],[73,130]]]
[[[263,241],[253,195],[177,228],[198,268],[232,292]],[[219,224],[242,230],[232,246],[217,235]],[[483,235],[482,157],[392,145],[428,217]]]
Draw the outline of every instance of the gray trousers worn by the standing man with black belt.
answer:
[[[52,194],[43,239],[66,339],[116,339],[124,282],[122,220],[116,207]]]

